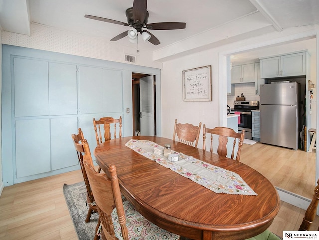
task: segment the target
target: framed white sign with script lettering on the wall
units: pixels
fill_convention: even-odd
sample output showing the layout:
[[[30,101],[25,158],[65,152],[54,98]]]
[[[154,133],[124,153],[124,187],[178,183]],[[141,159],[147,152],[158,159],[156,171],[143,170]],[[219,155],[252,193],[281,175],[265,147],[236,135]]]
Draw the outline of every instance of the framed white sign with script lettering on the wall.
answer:
[[[183,101],[211,101],[211,66],[183,71]]]

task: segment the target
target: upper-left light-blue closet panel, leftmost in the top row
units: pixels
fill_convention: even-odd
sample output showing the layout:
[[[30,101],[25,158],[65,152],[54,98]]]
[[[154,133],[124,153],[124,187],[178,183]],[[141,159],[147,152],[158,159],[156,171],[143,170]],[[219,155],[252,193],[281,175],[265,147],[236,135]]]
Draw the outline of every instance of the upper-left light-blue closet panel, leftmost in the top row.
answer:
[[[48,62],[14,58],[15,117],[49,114]]]

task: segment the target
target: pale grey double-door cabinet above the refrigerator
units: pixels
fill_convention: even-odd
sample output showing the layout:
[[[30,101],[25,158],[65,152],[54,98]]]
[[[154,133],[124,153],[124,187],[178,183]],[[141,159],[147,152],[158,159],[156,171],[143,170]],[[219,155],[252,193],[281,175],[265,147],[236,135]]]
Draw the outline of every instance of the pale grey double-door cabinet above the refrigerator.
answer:
[[[307,51],[292,54],[260,58],[260,77],[290,77],[306,75]]]

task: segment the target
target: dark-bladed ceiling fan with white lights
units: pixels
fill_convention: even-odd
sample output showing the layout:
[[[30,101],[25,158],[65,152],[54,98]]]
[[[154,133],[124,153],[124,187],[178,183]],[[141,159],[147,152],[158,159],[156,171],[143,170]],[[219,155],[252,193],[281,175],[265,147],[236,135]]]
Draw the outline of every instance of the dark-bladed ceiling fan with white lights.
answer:
[[[137,42],[137,34],[138,32],[140,32],[144,41],[148,40],[154,45],[159,45],[159,39],[157,39],[151,32],[142,30],[142,28],[146,28],[148,30],[176,30],[186,28],[186,23],[184,22],[158,22],[148,24],[149,13],[146,8],[147,0],[133,0],[133,7],[130,7],[125,11],[128,23],[91,15],[85,15],[84,17],[98,21],[133,27],[132,29],[122,32],[121,34],[113,37],[111,41],[120,40],[128,35],[131,42]]]

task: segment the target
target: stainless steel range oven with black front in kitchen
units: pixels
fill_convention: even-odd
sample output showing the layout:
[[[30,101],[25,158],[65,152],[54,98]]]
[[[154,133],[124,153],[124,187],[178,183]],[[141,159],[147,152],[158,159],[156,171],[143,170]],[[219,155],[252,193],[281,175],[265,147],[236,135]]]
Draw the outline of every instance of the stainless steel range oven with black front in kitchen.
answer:
[[[251,111],[259,109],[258,101],[234,101],[234,112],[240,113],[238,132],[245,130],[245,138],[252,139],[251,135]]]

